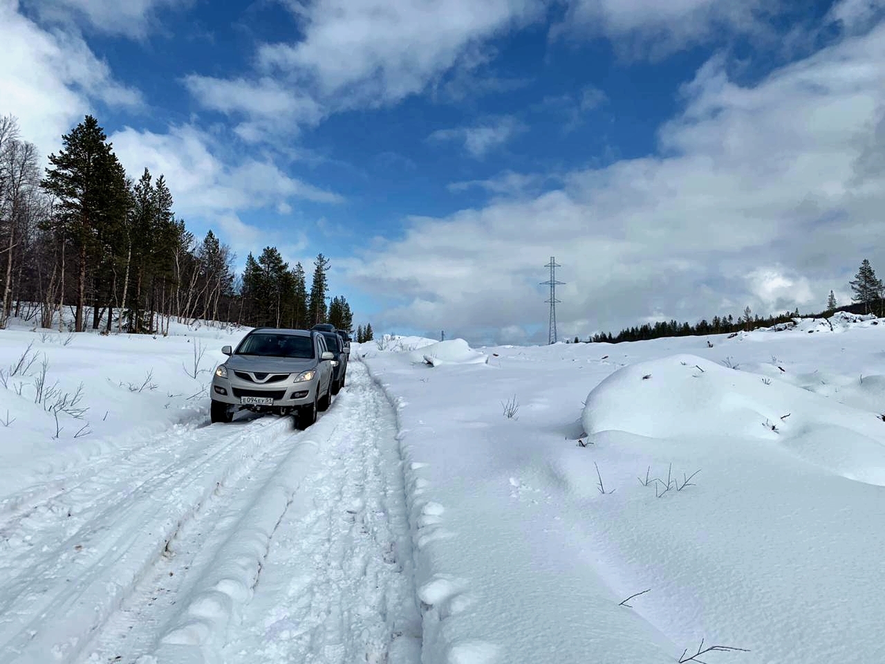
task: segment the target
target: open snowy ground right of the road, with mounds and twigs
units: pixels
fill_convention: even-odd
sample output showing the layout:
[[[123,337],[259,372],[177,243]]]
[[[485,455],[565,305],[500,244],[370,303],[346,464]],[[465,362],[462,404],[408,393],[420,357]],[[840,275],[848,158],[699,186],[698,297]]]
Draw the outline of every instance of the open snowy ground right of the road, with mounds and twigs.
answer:
[[[663,664],[701,639],[750,651],[711,662],[885,661],[873,322],[496,347],[492,370],[367,358],[400,423],[422,661]]]

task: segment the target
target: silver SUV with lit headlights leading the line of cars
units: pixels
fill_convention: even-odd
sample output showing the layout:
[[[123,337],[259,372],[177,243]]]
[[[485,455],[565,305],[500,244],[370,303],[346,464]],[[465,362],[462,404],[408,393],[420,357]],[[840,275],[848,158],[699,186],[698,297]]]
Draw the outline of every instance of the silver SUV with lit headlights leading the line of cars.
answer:
[[[315,331],[257,328],[212,376],[212,421],[229,422],[236,411],[295,413],[295,425],[306,429],[332,402],[335,354]]]

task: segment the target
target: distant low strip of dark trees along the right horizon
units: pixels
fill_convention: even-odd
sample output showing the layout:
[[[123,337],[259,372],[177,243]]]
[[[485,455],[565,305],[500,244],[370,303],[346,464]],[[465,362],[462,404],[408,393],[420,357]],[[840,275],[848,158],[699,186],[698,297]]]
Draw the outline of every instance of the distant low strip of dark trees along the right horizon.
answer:
[[[820,317],[835,313],[838,310],[851,313],[878,313],[880,316],[885,316],[885,286],[883,286],[881,279],[876,277],[875,270],[868,259],[863,259],[858,268],[858,274],[855,274],[854,279],[849,282],[849,286],[852,293],[851,305],[839,306],[834,291],[830,290],[829,296],[827,296],[826,309],[823,312],[808,315]],[[758,314],[753,314],[750,307],[747,306],[743,310],[743,315],[738,316],[736,320],[730,313],[724,316],[713,316],[710,321],[703,319],[694,325],[689,322],[680,323],[676,320],[662,320],[624,328],[617,335],[612,335],[611,332],[599,332],[590,336],[586,341],[620,344],[627,341],[647,341],[664,336],[735,334],[742,330],[749,332],[755,328],[770,328],[778,323],[789,322],[799,315],[797,307],[793,312],[760,317]],[[573,343],[578,344],[580,342],[581,339],[575,336]]]

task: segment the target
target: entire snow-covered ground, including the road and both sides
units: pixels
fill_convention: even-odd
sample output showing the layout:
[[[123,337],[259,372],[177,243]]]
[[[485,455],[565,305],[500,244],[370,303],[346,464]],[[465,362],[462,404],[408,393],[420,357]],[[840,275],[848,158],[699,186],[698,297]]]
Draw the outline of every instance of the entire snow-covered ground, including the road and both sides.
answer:
[[[885,320],[384,337],[304,432],[171,331],[0,331],[0,662],[885,661]]]

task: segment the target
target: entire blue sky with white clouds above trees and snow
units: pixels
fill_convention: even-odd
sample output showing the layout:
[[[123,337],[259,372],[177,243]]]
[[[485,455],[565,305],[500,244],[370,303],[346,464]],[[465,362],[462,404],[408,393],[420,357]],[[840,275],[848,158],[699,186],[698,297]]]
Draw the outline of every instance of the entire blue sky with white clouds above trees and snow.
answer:
[[[0,114],[96,114],[377,330],[823,308],[885,272],[885,0],[0,0]]]

